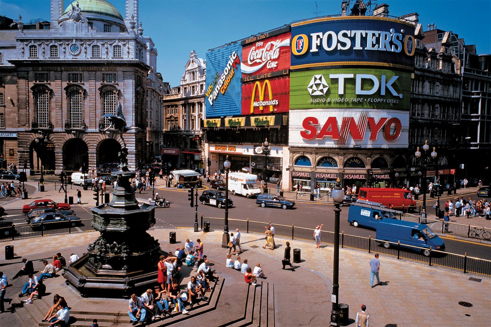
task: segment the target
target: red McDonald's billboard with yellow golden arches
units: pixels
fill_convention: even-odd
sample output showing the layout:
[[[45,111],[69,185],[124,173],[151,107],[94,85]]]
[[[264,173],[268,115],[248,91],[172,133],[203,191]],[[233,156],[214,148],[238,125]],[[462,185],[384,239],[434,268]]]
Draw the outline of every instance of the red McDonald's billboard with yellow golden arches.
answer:
[[[288,75],[242,84],[242,114],[272,114],[288,112],[290,77]]]

